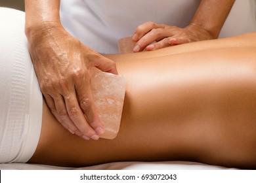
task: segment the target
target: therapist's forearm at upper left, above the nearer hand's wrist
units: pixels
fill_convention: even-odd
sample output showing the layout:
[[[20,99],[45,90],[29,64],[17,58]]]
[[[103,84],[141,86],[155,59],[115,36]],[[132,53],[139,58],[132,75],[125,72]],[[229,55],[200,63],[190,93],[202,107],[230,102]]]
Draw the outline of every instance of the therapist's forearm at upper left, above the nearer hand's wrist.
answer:
[[[48,24],[60,25],[60,0],[25,0],[26,35]]]

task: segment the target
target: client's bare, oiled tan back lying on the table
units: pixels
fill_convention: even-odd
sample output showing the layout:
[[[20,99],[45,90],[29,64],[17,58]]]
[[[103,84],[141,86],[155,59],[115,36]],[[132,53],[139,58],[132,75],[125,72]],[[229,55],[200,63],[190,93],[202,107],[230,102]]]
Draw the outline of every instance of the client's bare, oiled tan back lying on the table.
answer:
[[[127,78],[116,139],[72,135],[44,102],[41,136],[29,163],[81,167],[189,160],[255,169],[255,39],[256,33],[248,33],[106,56]]]

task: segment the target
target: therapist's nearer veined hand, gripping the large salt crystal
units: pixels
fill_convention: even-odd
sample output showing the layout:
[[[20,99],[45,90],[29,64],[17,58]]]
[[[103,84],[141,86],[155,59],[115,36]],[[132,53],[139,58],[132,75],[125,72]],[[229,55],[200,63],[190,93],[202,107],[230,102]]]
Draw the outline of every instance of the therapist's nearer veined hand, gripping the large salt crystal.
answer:
[[[116,63],[85,46],[61,24],[26,32],[41,92],[56,119],[83,139],[99,138],[104,125],[96,112],[89,68],[117,74]]]

